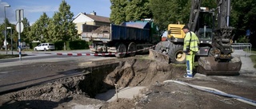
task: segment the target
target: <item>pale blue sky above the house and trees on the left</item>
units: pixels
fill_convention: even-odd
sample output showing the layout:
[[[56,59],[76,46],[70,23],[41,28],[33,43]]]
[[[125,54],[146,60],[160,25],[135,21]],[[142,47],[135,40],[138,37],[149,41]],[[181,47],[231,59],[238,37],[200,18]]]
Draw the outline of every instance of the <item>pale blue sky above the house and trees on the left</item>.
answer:
[[[98,16],[110,17],[110,0],[65,0],[70,5],[70,11],[74,17],[79,13],[90,14],[95,11]],[[32,25],[37,21],[43,12],[52,18],[54,12],[58,12],[58,7],[62,0],[0,0],[0,24],[4,20],[4,6],[6,7],[6,18],[12,24],[16,24],[15,10],[24,10],[24,17]]]

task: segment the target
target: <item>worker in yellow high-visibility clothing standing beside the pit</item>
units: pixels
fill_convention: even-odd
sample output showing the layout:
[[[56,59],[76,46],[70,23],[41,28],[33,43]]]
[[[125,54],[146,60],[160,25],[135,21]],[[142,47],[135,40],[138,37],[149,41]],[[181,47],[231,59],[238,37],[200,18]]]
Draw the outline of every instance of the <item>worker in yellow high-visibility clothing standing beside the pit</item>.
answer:
[[[186,53],[186,78],[193,78],[194,55],[198,52],[199,40],[194,32],[191,32],[188,25],[182,28],[186,33],[184,38],[183,52]]]

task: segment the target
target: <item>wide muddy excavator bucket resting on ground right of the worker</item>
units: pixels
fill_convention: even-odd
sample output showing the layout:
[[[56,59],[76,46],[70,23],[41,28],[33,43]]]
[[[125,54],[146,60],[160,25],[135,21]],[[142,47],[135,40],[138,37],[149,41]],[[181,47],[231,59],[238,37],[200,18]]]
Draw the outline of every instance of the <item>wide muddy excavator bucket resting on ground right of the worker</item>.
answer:
[[[206,76],[235,76],[239,75],[242,62],[238,57],[233,57],[228,62],[218,62],[214,56],[202,56],[198,59],[198,72]]]

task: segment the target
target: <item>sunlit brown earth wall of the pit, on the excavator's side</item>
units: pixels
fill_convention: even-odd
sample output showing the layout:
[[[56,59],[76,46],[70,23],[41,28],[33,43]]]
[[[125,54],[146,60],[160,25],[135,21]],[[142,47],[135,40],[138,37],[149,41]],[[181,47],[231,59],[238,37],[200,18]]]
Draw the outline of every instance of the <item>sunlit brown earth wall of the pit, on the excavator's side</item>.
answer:
[[[148,86],[157,81],[181,77],[182,72],[185,72],[184,67],[174,67],[154,60],[134,59],[120,64],[104,81],[112,86],[117,84],[119,88]]]

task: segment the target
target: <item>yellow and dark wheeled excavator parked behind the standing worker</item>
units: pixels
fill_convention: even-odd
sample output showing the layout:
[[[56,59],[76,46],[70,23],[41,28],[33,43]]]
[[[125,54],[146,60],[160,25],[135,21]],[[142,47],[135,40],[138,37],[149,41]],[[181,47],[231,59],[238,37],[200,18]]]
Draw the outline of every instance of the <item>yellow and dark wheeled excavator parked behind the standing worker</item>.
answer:
[[[200,44],[197,72],[206,76],[239,75],[242,62],[239,57],[232,56],[233,37],[230,26],[230,0],[217,0],[218,7],[209,10],[201,7],[202,0],[191,0],[190,31],[197,34]],[[168,25],[167,41],[161,41],[150,56],[155,60],[166,63],[183,64],[186,54],[182,52],[185,33],[180,24]]]

